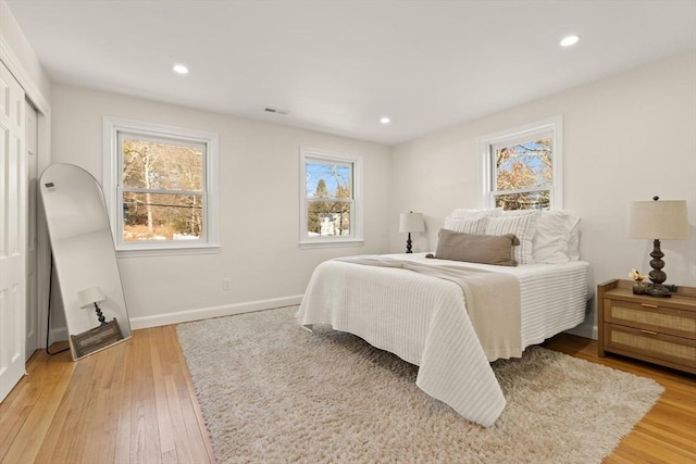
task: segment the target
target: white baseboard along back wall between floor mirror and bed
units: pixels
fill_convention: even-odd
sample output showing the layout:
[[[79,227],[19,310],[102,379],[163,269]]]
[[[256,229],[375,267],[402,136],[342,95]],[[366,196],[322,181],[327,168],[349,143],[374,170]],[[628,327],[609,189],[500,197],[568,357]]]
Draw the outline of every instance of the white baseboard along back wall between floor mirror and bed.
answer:
[[[269,300],[257,300],[245,303],[227,304],[223,306],[199,308],[196,310],[178,311],[176,313],[157,314],[152,316],[130,317],[130,328],[159,327],[170,324],[188,323],[191,321],[208,319],[211,317],[231,316],[233,314],[251,313],[273,308],[291,306],[300,304],[302,296],[273,298]]]

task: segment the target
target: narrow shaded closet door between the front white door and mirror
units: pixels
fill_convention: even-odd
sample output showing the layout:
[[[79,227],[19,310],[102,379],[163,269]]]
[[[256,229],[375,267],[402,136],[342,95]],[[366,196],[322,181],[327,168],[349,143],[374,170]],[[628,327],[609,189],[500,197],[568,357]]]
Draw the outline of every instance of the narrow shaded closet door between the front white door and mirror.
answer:
[[[26,360],[39,349],[39,290],[38,290],[38,239],[36,218],[38,214],[38,114],[34,106],[25,103],[26,124],[24,127],[26,141],[26,187],[27,218],[26,218]]]

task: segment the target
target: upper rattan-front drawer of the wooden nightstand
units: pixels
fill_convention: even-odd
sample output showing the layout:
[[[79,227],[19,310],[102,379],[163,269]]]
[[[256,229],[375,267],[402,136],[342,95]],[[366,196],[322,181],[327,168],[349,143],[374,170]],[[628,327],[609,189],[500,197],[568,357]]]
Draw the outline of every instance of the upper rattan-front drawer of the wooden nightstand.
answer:
[[[605,299],[604,306],[607,323],[696,339],[696,313],[693,311],[613,299]]]

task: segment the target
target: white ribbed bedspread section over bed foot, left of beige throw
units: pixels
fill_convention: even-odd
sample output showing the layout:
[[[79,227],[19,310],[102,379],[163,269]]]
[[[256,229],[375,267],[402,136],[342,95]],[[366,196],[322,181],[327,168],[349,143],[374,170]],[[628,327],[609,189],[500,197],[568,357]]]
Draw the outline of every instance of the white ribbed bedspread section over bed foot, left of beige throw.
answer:
[[[420,366],[417,385],[464,418],[490,426],[506,405],[459,284],[390,266],[320,264],[297,313]]]

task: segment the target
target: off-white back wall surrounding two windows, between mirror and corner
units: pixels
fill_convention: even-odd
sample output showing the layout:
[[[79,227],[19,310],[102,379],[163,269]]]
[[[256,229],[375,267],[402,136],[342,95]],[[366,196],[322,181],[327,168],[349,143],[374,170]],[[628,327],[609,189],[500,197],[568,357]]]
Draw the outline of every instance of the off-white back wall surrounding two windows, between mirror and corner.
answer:
[[[387,147],[281,125],[53,86],[53,163],[101,179],[104,115],[220,135],[216,254],[120,258],[134,328],[299,301],[320,262],[388,251]],[[299,147],[363,156],[364,246],[304,249],[299,240]],[[233,289],[223,291],[222,279]]]

